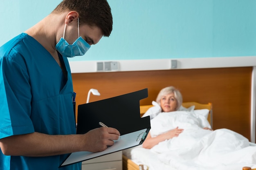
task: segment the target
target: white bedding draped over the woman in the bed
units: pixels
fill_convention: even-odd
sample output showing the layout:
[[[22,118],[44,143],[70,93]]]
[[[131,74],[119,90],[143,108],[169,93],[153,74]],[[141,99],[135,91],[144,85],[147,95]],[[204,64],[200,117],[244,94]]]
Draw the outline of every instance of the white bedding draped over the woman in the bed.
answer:
[[[135,163],[149,170],[242,170],[256,168],[256,146],[242,135],[228,129],[204,130],[209,127],[205,116],[193,112],[159,113],[151,120],[151,136],[176,127],[184,131],[153,148],[130,149]],[[127,151],[124,151],[126,152]],[[128,155],[129,156],[129,155]]]

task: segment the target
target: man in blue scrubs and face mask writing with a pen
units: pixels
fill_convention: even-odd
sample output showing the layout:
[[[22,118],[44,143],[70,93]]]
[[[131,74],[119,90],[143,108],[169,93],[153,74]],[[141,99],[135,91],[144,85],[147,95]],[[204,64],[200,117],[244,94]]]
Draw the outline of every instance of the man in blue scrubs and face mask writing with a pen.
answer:
[[[111,31],[106,0],[64,0],[0,47],[0,170],[80,170],[58,167],[68,153],[103,151],[119,138],[107,127],[76,135],[67,60]]]

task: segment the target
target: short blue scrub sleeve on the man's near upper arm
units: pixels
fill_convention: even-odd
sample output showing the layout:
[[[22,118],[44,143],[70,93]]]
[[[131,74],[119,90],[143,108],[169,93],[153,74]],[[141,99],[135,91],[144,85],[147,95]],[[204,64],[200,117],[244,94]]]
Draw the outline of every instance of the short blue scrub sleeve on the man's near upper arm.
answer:
[[[17,54],[11,54],[16,55]],[[22,58],[22,57],[21,57]],[[34,132],[30,119],[31,89],[24,62],[2,57],[0,65],[0,139]]]

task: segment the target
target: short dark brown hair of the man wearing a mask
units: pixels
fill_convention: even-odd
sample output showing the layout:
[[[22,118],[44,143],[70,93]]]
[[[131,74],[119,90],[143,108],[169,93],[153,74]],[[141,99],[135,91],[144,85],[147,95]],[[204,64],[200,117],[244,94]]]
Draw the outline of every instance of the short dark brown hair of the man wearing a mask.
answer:
[[[86,23],[90,26],[98,26],[103,36],[109,37],[113,19],[107,0],[63,0],[52,13],[66,11],[78,12],[79,24]]]

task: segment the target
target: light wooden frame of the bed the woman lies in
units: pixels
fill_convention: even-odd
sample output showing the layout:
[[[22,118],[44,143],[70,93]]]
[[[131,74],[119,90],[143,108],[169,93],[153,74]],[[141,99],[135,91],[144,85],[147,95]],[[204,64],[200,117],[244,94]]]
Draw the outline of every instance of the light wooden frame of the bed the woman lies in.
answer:
[[[140,106],[140,115],[141,116],[144,115],[144,113],[146,113],[146,111],[152,106],[153,105],[142,105],[142,106]],[[212,126],[212,124],[213,124],[213,121],[212,121],[212,115],[213,115],[212,103],[200,104],[200,103],[197,103],[197,102],[183,102],[182,106],[184,106],[185,108],[189,108],[190,106],[195,106],[195,109],[208,109],[209,110],[208,121]],[[122,160],[123,160],[123,170],[145,170],[143,168],[143,165],[137,165],[136,163],[134,163],[131,159],[129,159],[125,155],[122,155]],[[150,167],[149,167],[149,169],[150,169]],[[250,167],[243,167],[243,170],[256,170],[256,168],[252,169]]]

